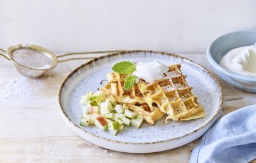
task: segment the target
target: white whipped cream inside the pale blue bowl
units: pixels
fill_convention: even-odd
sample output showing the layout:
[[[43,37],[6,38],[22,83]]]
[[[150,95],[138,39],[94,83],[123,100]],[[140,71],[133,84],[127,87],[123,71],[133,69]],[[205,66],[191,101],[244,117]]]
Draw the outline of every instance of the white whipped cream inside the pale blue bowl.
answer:
[[[230,50],[220,60],[220,66],[237,74],[256,76],[256,43]]]

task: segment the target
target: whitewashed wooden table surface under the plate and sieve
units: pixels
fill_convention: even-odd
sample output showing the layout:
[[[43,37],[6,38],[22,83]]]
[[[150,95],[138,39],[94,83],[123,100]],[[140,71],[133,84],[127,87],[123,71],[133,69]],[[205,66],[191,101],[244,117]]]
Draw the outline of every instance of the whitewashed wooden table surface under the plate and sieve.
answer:
[[[204,54],[182,56],[212,71]],[[100,148],[72,132],[61,119],[57,94],[65,76],[84,62],[61,63],[31,79],[0,59],[0,162],[189,162],[200,138],[165,152],[132,154]],[[256,94],[218,80],[224,94],[222,116],[256,103]]]

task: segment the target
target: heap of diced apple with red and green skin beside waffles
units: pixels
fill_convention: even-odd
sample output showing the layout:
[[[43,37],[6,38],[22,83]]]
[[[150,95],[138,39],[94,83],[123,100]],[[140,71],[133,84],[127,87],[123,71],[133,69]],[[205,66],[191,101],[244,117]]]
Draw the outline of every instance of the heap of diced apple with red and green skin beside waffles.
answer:
[[[86,96],[81,96],[80,103],[83,104],[80,125],[95,125],[102,131],[108,129],[113,136],[123,131],[124,125],[139,128],[143,122],[143,117],[130,111],[127,105],[116,104],[114,96],[105,96],[100,90],[95,94],[88,92]]]

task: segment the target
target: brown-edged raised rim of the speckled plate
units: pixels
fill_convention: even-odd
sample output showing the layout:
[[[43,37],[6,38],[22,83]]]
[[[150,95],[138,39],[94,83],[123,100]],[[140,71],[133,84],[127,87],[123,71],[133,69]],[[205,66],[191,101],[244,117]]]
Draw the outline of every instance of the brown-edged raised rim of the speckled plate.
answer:
[[[63,87],[65,85],[65,83],[68,81],[69,78],[72,77],[73,74],[77,73],[77,71],[79,71],[79,69],[83,69],[83,67],[88,66],[90,64],[92,64],[93,62],[96,62],[97,60],[101,60],[101,59],[107,59],[109,57],[113,57],[116,55],[124,55],[125,53],[140,53],[140,52],[145,52],[145,53],[158,53],[161,55],[169,55],[172,57],[176,57],[179,58],[181,60],[184,60],[185,62],[189,62],[190,64],[194,64],[196,67],[199,67],[200,69],[202,69],[203,71],[205,71],[205,73],[209,74],[211,76],[211,78],[215,81],[215,83],[218,86],[218,89],[220,90],[220,104],[218,106],[218,110],[216,111],[216,113],[214,114],[214,116],[211,118],[211,120],[209,120],[208,122],[206,122],[204,125],[202,125],[201,127],[198,127],[196,129],[194,129],[193,131],[189,132],[188,134],[184,134],[183,136],[178,136],[175,138],[171,138],[171,139],[166,139],[166,140],[161,140],[161,141],[153,141],[153,142],[146,142],[146,143],[132,143],[132,142],[124,142],[124,141],[116,141],[113,139],[107,139],[107,138],[102,138],[100,136],[97,136],[95,134],[92,134],[90,132],[84,131],[83,129],[81,129],[79,126],[77,126],[76,124],[74,124],[74,122],[72,122],[72,120],[70,120],[70,118],[68,118],[67,114],[64,112],[62,105],[61,105],[61,92],[63,91]],[[190,60],[187,59],[186,57],[182,57],[180,55],[174,54],[174,53],[168,53],[168,52],[161,52],[161,51],[154,51],[154,50],[127,50],[127,51],[122,51],[122,52],[116,52],[116,53],[109,53],[107,55],[103,55],[100,57],[96,57],[95,59],[89,60],[88,62],[81,64],[81,66],[78,66],[76,69],[74,69],[71,73],[69,73],[65,79],[62,81],[60,88],[58,90],[58,105],[59,105],[59,111],[62,114],[62,117],[65,118],[67,120],[67,122],[69,122],[70,124],[74,125],[74,127],[76,129],[78,129],[81,132],[84,132],[85,134],[90,134],[90,136],[93,136],[95,138],[100,138],[103,139],[105,141],[110,141],[112,143],[121,143],[121,144],[130,144],[130,145],[150,145],[150,144],[157,144],[157,143],[164,143],[164,142],[169,142],[169,141],[174,141],[174,140],[178,140],[180,138],[186,138],[187,136],[198,132],[202,129],[204,129],[205,127],[207,127],[207,125],[211,125],[212,122],[214,122],[214,120],[216,120],[216,118],[218,118],[218,116],[221,113],[221,109],[223,107],[223,91],[221,89],[221,85],[220,82],[217,80],[217,78],[214,76],[214,74],[211,73],[211,71],[209,71],[208,69],[206,69],[204,66]]]

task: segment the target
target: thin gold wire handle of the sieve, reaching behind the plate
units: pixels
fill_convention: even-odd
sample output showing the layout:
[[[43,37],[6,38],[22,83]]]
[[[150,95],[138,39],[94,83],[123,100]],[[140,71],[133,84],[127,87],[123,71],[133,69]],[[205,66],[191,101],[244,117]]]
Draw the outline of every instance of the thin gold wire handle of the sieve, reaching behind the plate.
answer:
[[[61,57],[67,57],[68,55],[79,55],[79,54],[92,54],[92,53],[115,53],[115,52],[125,52],[127,50],[110,50],[110,51],[99,51],[99,52],[78,52],[78,53],[64,53],[62,55],[56,56],[58,59]],[[97,57],[77,57],[77,58],[71,58],[71,59],[63,59],[58,60],[58,62],[66,62],[68,60],[77,60],[77,59],[95,59]]]

